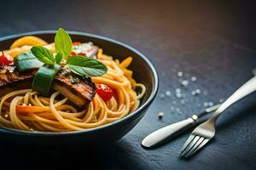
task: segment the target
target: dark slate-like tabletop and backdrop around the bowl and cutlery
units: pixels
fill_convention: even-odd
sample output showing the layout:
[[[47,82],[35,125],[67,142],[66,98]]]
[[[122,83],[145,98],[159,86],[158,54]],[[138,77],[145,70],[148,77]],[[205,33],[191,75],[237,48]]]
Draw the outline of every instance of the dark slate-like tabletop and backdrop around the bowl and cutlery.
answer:
[[[1,146],[1,165],[102,169],[255,169],[256,95],[242,99],[218,120],[216,138],[189,160],[178,157],[185,133],[155,150],[142,139],[154,130],[202,111],[204,102],[226,99],[253,77],[256,67],[255,5],[246,1],[11,1],[0,3],[0,37],[63,27],[125,42],[156,66],[160,92],[144,116],[119,142],[103,149],[30,150]],[[187,88],[182,79],[197,77]],[[181,88],[183,105],[175,96]],[[191,90],[201,89],[192,96]],[[164,96],[169,90],[172,95]],[[160,121],[157,113],[164,111]],[[29,149],[27,149],[29,150]]]

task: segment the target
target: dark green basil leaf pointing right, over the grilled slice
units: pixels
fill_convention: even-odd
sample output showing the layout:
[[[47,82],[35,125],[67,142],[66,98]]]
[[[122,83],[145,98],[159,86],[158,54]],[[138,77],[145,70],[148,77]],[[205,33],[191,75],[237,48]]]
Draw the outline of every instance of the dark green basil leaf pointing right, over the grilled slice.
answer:
[[[67,66],[73,73],[82,77],[99,77],[108,71],[106,65],[100,61],[79,55],[69,56]]]

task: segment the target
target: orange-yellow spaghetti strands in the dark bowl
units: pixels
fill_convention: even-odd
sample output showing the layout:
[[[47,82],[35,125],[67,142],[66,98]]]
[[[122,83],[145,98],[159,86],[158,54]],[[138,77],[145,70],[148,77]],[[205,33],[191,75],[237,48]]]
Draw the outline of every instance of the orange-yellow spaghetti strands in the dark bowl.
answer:
[[[54,43],[48,44],[38,37],[29,36],[15,41],[4,53],[15,58],[17,54],[29,51],[33,45],[42,45],[55,52]],[[26,131],[76,131],[115,122],[137,110],[146,88],[137,83],[132,78],[132,71],[127,69],[132,58],[119,62],[102,52],[99,48],[96,59],[108,67],[108,72],[91,79],[113,89],[114,96],[107,102],[96,94],[80,111],[58,91],[46,98],[32,89],[20,89],[0,98],[0,126]],[[137,94],[135,88],[141,88],[141,93]]]

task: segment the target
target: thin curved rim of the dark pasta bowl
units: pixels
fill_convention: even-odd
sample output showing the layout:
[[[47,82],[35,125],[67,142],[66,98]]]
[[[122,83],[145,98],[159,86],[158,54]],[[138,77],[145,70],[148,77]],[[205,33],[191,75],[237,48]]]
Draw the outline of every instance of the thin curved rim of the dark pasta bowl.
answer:
[[[91,132],[96,132],[100,131],[103,128],[108,128],[108,127],[113,127],[116,124],[119,124],[121,122],[125,122],[128,119],[131,119],[131,117],[136,116],[140,112],[146,110],[149,105],[153,102],[158,89],[159,89],[159,77],[157,74],[157,71],[154,68],[154,65],[151,63],[151,61],[141,52],[139,52],[136,48],[132,48],[130,45],[125,44],[124,42],[119,42],[117,40],[114,40],[109,37],[103,37],[100,35],[92,34],[92,33],[87,33],[87,32],[82,32],[82,31],[67,31],[70,35],[73,36],[82,36],[82,37],[93,37],[97,39],[102,39],[103,41],[107,42],[112,42],[114,44],[120,45],[124,48],[128,48],[131,50],[133,53],[139,55],[143,59],[143,61],[149,66],[151,72],[153,73],[153,90],[151,91],[151,94],[149,98],[146,100],[146,102],[143,105],[140,105],[136,111],[131,112],[129,115],[119,119],[118,121],[111,122],[105,125],[102,125],[100,127],[94,127],[90,129],[84,129],[84,130],[79,130],[79,131],[68,131],[68,132],[32,132],[32,131],[24,131],[24,130],[19,130],[19,129],[13,129],[9,127],[0,127],[0,133],[13,133],[13,134],[21,134],[21,135],[30,135],[30,136],[59,136],[59,135],[70,135],[70,134],[79,134],[79,133],[91,133]],[[23,33],[18,33],[14,35],[9,35],[5,37],[0,37],[0,43],[3,41],[9,40],[9,39],[16,39],[19,37],[24,37],[24,36],[37,36],[37,35],[44,35],[44,34],[55,34],[56,30],[48,30],[48,31],[28,31],[28,32],[23,32]]]

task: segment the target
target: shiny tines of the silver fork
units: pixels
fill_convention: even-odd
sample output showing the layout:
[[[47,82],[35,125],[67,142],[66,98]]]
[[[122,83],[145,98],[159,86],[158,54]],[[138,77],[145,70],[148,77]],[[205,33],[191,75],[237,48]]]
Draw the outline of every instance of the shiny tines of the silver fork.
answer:
[[[201,136],[197,136],[195,134],[191,134],[189,139],[183,144],[182,151],[180,153],[183,157],[192,156],[197,150],[200,150],[202,146],[207,144],[209,139],[206,139]]]

